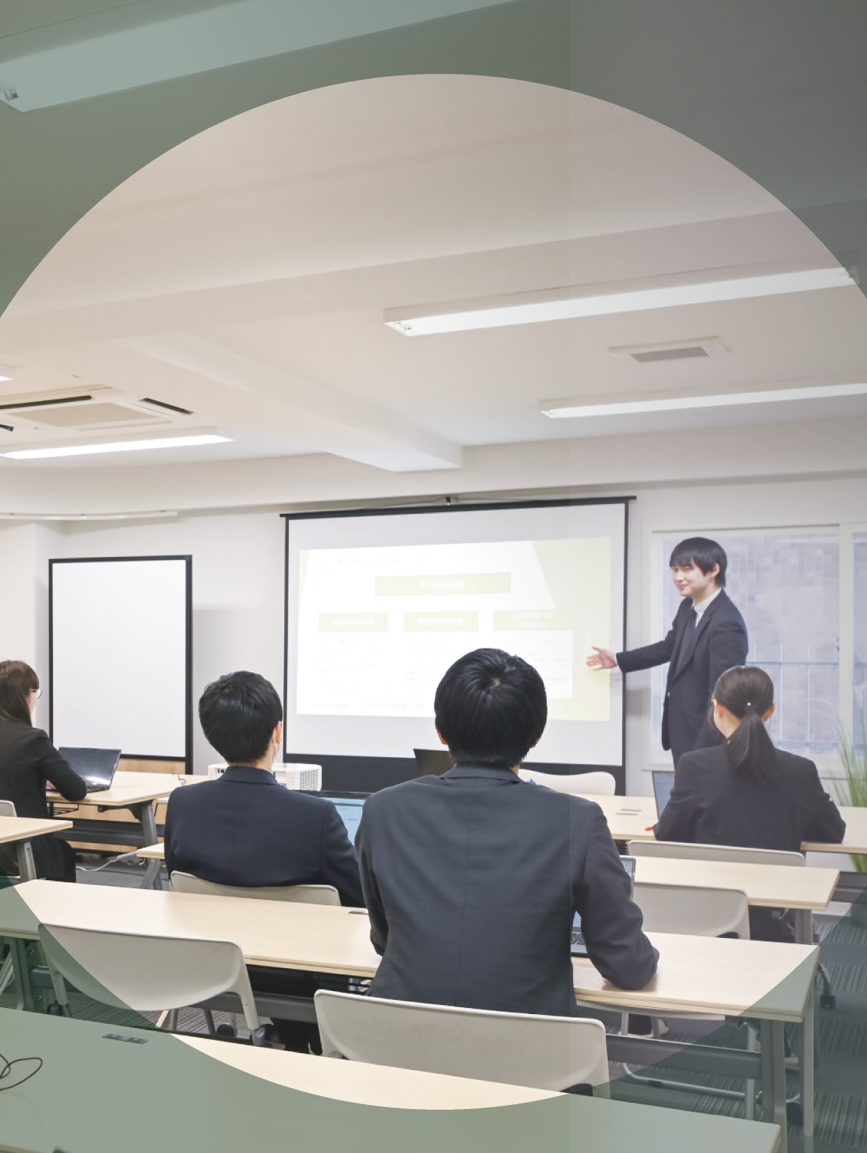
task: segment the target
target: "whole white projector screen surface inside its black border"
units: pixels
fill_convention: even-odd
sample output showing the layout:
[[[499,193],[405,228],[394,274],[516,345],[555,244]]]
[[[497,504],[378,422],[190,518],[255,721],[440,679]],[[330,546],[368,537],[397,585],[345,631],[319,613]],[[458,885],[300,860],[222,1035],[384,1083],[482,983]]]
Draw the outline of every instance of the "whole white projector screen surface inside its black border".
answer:
[[[438,746],[436,687],[476,648],[545,683],[528,761],[623,763],[624,503],[287,518],[286,751],[412,758]]]

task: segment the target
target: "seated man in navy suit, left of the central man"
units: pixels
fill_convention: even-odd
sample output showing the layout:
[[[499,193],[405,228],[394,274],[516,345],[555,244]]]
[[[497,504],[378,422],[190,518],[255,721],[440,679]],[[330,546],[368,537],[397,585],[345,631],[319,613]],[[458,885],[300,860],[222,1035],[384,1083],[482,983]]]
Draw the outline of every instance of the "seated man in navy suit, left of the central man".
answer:
[[[165,826],[166,868],[216,884],[333,884],[362,906],[359,862],[331,801],[284,789],[271,771],[282,740],[282,706],[255,672],[232,672],[198,702],[202,730],[229,768],[217,781],[175,789]],[[250,967],[255,990],[312,996],[315,978]],[[274,1020],[287,1048],[316,1045],[316,1026]]]

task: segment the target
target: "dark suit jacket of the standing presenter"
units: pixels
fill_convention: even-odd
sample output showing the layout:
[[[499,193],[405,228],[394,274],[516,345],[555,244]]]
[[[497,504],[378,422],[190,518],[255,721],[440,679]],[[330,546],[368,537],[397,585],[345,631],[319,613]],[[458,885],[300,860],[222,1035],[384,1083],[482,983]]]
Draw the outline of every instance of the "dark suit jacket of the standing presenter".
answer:
[[[747,626],[723,590],[702,613],[698,626],[691,597],[684,597],[665,640],[617,654],[624,672],[669,662],[662,710],[662,747],[678,763],[693,748],[716,745],[721,738],[708,721],[717,678],[747,658]]]

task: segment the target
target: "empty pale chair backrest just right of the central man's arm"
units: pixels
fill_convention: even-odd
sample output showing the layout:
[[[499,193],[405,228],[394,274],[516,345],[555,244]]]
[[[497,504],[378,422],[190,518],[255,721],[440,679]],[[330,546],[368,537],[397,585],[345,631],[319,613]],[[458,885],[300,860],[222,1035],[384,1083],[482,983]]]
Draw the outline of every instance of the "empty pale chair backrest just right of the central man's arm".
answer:
[[[636,881],[632,899],[642,912],[648,933],[685,933],[689,936],[734,933],[744,941],[749,940],[747,895],[739,889]]]

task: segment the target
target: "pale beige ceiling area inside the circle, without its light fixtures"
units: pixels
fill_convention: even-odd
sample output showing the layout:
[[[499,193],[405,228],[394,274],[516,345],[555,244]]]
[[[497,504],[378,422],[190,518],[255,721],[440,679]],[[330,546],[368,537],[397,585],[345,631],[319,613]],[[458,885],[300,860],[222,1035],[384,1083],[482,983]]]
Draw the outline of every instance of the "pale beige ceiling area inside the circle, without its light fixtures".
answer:
[[[552,421],[542,401],[867,379],[855,287],[406,338],[383,310],[832,257],[727,161],[590,97],[478,76],[306,92],[216,126],[76,224],[0,318],[0,405],[154,398],[229,443],[15,461],[76,469],[331,454],[453,470],[465,450],[867,414],[867,397]],[[704,361],[611,349],[716,337]],[[0,451],[92,440],[16,415]],[[101,439],[123,428],[106,425]],[[141,434],[138,434],[141,435]],[[154,434],[156,435],[156,434]]]

